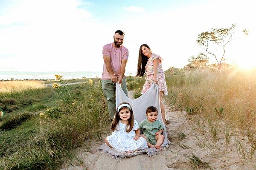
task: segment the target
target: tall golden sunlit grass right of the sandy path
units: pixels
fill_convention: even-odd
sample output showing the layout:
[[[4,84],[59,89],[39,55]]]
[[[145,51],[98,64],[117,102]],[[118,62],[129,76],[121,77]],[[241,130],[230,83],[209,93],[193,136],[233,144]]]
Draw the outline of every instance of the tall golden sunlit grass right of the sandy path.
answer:
[[[256,69],[221,73],[207,68],[169,69],[166,82],[171,108],[193,107],[202,116],[221,118],[244,130],[255,129]]]

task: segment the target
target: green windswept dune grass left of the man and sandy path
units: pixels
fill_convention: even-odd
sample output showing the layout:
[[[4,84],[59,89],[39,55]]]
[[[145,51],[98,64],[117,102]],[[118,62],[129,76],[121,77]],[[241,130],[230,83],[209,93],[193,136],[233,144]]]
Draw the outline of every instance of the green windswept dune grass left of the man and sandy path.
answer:
[[[33,96],[27,90],[8,95],[5,98],[12,97],[16,104],[22,96]],[[108,129],[107,104],[98,81],[40,89],[35,101],[40,96],[56,96],[52,98],[55,104],[38,101],[6,113],[0,120],[5,130],[0,135],[0,169],[58,169],[74,156],[74,148],[86,144],[87,139],[101,139],[100,134]],[[24,109],[31,112],[20,113]]]

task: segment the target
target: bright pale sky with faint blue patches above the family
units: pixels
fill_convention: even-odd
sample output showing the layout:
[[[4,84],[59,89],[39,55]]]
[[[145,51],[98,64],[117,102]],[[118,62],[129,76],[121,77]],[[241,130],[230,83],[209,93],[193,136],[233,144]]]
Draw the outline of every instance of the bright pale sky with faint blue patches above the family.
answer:
[[[0,71],[102,71],[102,47],[116,30],[125,32],[126,74],[136,72],[143,43],[163,58],[164,70],[183,68],[204,52],[198,34],[232,24],[226,59],[250,68],[255,7],[256,0],[0,0]]]

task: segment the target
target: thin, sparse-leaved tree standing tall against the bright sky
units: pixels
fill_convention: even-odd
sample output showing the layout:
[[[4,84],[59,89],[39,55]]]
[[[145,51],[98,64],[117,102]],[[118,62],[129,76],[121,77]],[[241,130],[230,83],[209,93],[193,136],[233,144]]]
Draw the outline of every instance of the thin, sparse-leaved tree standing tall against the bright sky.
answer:
[[[234,34],[233,28],[235,26],[236,24],[232,24],[230,28],[212,28],[212,31],[202,32],[198,35],[198,40],[196,42],[201,45],[208,54],[215,57],[218,63],[218,69],[221,68],[221,62],[223,61],[226,52],[225,47],[232,40]],[[217,53],[217,51],[213,50],[214,48],[216,50],[222,49],[223,52]]]

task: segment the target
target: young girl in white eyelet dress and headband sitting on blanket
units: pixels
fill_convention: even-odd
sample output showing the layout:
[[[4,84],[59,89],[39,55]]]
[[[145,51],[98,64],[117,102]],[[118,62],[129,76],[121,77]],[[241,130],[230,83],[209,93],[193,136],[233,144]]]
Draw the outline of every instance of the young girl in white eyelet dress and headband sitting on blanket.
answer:
[[[140,137],[139,125],[129,103],[123,102],[117,107],[111,130],[112,135],[105,138],[109,147],[127,153],[148,147],[147,141]]]

